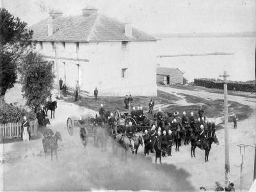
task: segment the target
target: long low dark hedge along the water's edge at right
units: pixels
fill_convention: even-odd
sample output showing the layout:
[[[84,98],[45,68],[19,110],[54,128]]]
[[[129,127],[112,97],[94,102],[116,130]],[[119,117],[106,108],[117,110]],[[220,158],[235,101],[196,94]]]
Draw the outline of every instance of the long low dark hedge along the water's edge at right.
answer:
[[[213,88],[213,89],[224,89],[223,81],[215,81],[213,79],[202,79],[195,78],[194,85]],[[248,84],[246,82],[228,82],[228,90],[236,90],[236,91],[246,91],[246,92],[256,92],[255,84]]]

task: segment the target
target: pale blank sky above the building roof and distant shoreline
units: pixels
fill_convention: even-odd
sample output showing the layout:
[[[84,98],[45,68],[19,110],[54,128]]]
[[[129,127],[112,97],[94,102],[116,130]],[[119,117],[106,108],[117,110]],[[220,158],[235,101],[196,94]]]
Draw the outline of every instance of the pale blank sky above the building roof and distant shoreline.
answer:
[[[155,33],[243,33],[256,31],[255,0],[0,0],[2,6],[28,23],[47,18],[51,10],[81,15],[85,6],[128,20]]]

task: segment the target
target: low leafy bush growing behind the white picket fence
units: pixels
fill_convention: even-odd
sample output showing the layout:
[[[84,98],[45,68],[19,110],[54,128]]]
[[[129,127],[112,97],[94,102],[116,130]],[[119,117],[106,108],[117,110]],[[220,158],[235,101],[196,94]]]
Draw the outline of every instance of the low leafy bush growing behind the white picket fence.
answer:
[[[8,122],[19,122],[22,121],[24,115],[26,115],[29,121],[36,119],[34,112],[28,112],[23,107],[15,107],[12,105],[4,104],[0,110],[0,123],[4,124]]]

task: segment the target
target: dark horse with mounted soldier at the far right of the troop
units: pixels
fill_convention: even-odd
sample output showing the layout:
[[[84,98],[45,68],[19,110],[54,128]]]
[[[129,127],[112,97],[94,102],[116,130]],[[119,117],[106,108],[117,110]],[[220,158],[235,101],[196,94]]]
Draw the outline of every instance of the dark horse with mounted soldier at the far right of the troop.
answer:
[[[218,138],[216,137],[216,134],[212,137],[205,138],[205,140],[203,142],[203,145],[198,144],[197,138],[198,137],[196,135],[191,136],[191,158],[193,158],[193,156],[196,157],[195,156],[195,149],[196,149],[196,147],[198,147],[199,149],[204,149],[204,151],[205,151],[205,162],[207,162],[207,161],[209,161],[208,157],[209,157],[209,152],[211,150],[212,142],[214,144],[219,145]],[[193,152],[193,156],[192,156],[192,152]]]

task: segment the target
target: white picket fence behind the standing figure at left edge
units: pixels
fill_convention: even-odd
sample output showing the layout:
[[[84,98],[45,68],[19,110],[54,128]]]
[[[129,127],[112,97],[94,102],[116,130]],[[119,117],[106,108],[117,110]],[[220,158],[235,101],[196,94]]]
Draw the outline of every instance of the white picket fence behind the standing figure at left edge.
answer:
[[[35,137],[38,131],[38,122],[29,121],[29,131],[31,132],[31,137]],[[0,124],[0,140],[6,138],[20,138],[21,122],[10,122],[6,124]]]

